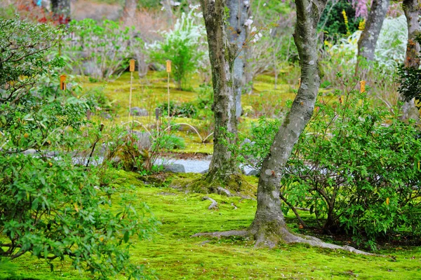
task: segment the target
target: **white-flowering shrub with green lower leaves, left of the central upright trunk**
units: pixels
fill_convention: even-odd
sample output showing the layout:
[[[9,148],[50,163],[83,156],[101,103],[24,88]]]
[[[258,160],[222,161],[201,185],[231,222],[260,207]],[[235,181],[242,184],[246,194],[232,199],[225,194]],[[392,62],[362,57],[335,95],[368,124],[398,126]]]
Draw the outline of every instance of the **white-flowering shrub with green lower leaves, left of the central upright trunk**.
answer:
[[[146,46],[154,62],[172,62],[172,76],[182,89],[187,76],[198,69],[205,68],[206,59],[206,29],[202,22],[201,13],[196,12],[199,6],[190,6],[186,15],[182,13],[174,28],[161,31],[163,41],[155,41]]]

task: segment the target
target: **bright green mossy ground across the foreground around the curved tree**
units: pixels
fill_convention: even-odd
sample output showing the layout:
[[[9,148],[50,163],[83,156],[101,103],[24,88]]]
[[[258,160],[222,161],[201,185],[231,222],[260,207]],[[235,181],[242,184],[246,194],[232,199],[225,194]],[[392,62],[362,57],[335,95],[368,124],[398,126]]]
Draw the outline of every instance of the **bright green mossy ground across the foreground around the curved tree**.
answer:
[[[269,250],[255,248],[252,241],[243,238],[191,237],[197,232],[246,229],[256,209],[252,199],[210,194],[208,197],[218,202],[218,209],[208,210],[210,201],[203,200],[204,195],[168,187],[175,179],[198,176],[145,177],[109,171],[110,186],[117,190],[123,185],[135,186],[138,202],[146,202],[162,223],[152,241],[132,240],[131,250],[131,261],[145,265],[145,271],[158,279],[421,279],[420,247],[382,248],[380,253],[388,256],[374,257],[303,244],[284,244]],[[254,178],[250,183],[257,181]],[[314,221],[308,212],[301,214],[306,223]],[[286,220],[291,230],[300,231],[292,214]],[[14,267],[1,267],[0,279],[89,279],[68,262],[54,264],[55,271],[50,272],[44,261],[24,255],[13,261]]]

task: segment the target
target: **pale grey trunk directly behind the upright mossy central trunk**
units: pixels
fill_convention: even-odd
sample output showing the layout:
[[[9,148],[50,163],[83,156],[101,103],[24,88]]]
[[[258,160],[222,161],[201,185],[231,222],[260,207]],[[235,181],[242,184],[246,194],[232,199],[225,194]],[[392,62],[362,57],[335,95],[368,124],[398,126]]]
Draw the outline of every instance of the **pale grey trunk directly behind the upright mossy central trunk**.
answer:
[[[246,57],[244,55],[244,44],[246,43],[246,25],[244,22],[248,19],[248,3],[244,3],[242,0],[226,0],[227,8],[229,10],[227,33],[229,41],[234,43],[240,50],[234,60],[234,85],[235,85],[235,106],[236,106],[236,118],[241,116],[241,93],[246,83],[246,77],[244,76],[244,66]]]

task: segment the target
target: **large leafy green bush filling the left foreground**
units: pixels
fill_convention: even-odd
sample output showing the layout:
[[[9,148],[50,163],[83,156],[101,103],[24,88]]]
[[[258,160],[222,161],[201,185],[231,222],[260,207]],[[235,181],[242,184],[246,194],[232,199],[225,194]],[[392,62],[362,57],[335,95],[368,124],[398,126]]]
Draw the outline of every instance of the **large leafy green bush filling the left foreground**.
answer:
[[[142,278],[142,267],[128,261],[131,238],[149,238],[157,222],[144,204],[133,207],[128,190],[102,184],[100,167],[74,164],[79,149],[93,149],[90,135],[100,135],[84,119],[87,101],[74,97],[80,88],[58,89],[54,67],[62,59],[45,60],[58,30],[20,20],[0,25],[9,27],[0,37],[0,259],[28,252],[51,269],[50,260],[69,258],[100,279]]]

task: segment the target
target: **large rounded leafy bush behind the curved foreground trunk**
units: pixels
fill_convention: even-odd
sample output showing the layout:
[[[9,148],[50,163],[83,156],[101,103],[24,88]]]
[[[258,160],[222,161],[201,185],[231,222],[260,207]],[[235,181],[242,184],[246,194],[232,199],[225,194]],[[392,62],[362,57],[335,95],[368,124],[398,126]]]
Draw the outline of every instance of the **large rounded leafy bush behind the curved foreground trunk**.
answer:
[[[309,208],[326,232],[373,248],[396,232],[420,236],[420,132],[398,117],[354,90],[317,102],[283,171],[286,202]],[[260,168],[278,127],[260,119],[240,160]]]

